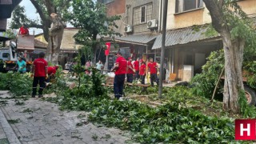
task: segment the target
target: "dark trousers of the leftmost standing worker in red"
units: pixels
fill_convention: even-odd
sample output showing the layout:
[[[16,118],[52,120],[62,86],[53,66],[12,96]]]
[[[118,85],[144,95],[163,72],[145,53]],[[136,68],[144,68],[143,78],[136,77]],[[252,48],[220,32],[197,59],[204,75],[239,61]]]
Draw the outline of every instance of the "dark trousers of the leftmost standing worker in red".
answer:
[[[46,81],[45,77],[34,77],[32,96],[37,94],[38,83],[39,83],[39,86],[40,86],[39,90],[38,90],[38,95],[42,95],[42,90],[46,87],[45,81]]]

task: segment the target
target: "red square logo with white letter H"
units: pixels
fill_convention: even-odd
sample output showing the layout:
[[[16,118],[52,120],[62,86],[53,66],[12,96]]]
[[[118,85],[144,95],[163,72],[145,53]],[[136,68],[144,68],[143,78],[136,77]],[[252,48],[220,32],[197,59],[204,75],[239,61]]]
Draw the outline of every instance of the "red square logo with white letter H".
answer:
[[[256,119],[235,120],[235,140],[256,140]]]

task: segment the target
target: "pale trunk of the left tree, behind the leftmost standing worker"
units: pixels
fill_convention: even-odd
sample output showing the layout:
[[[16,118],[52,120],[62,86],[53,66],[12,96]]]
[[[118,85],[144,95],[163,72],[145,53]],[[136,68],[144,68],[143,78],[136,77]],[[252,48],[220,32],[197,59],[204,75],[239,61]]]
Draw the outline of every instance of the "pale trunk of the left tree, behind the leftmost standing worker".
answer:
[[[50,26],[50,37],[48,38],[48,47],[46,52],[46,59],[53,64],[58,64],[58,55],[60,54],[60,46],[62,44],[62,34],[66,24],[62,22],[62,18],[58,15],[52,17],[52,24]]]

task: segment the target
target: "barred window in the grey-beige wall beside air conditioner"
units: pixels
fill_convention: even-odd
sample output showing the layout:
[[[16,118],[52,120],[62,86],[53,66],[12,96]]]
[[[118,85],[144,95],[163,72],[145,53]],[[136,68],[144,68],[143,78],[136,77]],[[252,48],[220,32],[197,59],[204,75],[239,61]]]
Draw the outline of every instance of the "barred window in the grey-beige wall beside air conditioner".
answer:
[[[148,3],[144,6],[138,6],[134,8],[134,25],[146,23],[152,19],[152,3]]]

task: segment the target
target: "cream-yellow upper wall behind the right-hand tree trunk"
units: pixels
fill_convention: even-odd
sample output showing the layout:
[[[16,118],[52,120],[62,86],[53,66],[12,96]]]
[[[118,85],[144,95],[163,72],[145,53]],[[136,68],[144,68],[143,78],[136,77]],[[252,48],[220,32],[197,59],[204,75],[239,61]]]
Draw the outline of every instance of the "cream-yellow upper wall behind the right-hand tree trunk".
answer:
[[[242,6],[242,10],[244,10],[246,14],[256,16],[256,0],[243,0],[238,3]],[[174,30],[193,25],[202,25],[210,22],[211,18],[206,6],[198,10],[190,10],[175,14],[175,0],[168,1],[167,30]]]

